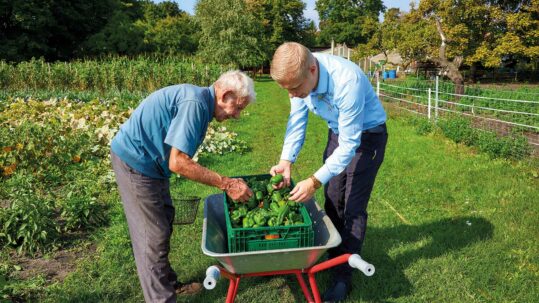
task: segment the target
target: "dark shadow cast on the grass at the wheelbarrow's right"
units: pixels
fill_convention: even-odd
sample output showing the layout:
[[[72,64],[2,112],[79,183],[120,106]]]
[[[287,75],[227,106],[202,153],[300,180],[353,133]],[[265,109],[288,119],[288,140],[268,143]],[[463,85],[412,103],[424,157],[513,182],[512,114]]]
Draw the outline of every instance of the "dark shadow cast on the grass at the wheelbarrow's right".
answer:
[[[387,302],[413,293],[405,270],[415,262],[458,253],[466,246],[492,238],[494,226],[481,217],[457,217],[421,225],[369,227],[362,257],[376,267],[372,277],[357,271],[347,302]],[[318,273],[322,295],[332,283],[329,272]],[[291,276],[290,280],[296,280]],[[292,282],[292,281],[290,281]],[[297,282],[296,282],[297,284]],[[300,289],[295,299],[303,301]]]

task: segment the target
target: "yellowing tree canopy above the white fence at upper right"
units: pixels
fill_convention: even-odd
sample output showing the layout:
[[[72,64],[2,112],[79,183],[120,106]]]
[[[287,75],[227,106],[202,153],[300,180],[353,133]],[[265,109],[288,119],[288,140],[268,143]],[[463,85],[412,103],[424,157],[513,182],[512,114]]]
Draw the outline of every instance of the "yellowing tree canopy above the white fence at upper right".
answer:
[[[462,66],[499,68],[539,60],[539,0],[422,0],[389,10],[359,55],[397,51],[406,62],[437,63],[455,83]]]

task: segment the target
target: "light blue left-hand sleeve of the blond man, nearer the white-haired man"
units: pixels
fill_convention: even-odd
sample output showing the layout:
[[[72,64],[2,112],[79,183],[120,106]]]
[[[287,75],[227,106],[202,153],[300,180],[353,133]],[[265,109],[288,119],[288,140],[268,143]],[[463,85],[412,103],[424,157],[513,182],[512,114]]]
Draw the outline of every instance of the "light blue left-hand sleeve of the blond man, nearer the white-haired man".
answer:
[[[309,108],[300,98],[290,99],[290,116],[286,125],[281,160],[296,162],[298,154],[305,142],[305,129],[309,118]]]

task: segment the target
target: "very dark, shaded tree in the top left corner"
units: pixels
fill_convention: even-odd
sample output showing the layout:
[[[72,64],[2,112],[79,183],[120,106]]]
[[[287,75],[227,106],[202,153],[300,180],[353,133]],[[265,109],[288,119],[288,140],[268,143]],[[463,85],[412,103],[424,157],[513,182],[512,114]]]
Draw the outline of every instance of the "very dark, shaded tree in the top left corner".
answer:
[[[0,0],[0,58],[67,60],[99,32],[117,0]]]

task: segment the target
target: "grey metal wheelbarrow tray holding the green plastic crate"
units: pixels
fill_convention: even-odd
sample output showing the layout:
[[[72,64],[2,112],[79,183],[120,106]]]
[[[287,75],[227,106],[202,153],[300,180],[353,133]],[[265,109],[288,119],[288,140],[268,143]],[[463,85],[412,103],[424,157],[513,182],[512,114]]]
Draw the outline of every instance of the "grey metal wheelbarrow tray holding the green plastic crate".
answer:
[[[305,207],[313,222],[314,246],[229,253],[224,204],[222,194],[211,195],[204,200],[201,246],[205,255],[217,259],[231,273],[309,268],[326,250],[341,243],[341,236],[329,217],[311,199]]]

